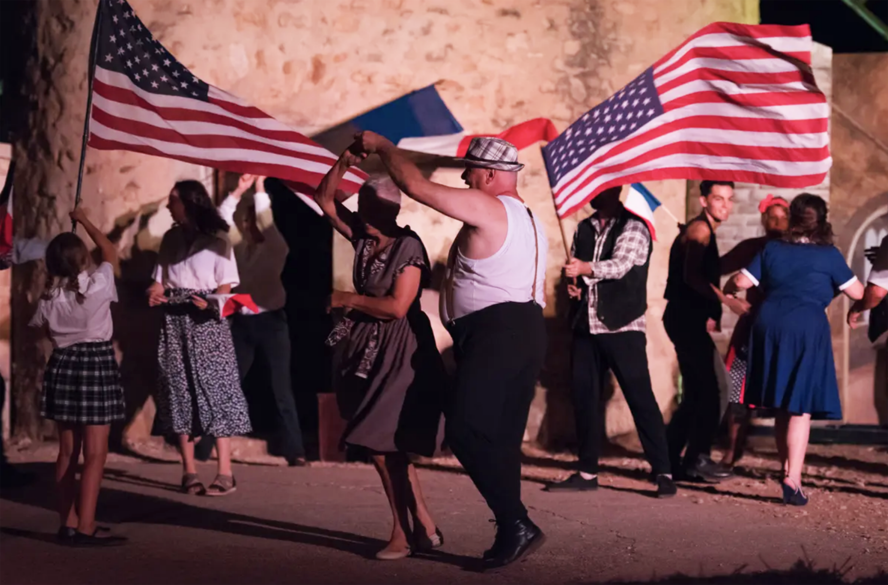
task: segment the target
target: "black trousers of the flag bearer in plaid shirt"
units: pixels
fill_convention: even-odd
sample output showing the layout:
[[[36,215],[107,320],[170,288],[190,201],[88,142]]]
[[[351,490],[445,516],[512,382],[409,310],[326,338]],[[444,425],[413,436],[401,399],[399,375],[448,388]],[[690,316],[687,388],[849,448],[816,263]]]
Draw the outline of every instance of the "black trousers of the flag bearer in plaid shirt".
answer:
[[[654,398],[647,369],[647,336],[641,331],[590,335],[575,333],[571,351],[572,398],[576,437],[580,444],[577,468],[599,472],[599,455],[605,427],[601,393],[607,372],[613,371],[632,413],[638,438],[654,474],[670,473],[666,426]]]

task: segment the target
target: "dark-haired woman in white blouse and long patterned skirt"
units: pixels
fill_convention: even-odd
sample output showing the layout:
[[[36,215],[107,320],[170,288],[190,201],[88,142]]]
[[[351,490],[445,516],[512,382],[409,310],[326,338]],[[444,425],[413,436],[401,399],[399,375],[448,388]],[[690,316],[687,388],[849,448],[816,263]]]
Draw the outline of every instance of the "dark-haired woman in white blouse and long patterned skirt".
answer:
[[[167,208],[176,225],[163,234],[155,283],[147,291],[148,304],[164,309],[157,416],[163,433],[178,437],[182,491],[231,494],[230,438],[250,432],[250,416],[228,322],[207,301],[239,282],[228,224],[198,181],[173,186]],[[216,439],[218,454],[218,473],[207,488],[194,465],[194,439],[204,435]]]

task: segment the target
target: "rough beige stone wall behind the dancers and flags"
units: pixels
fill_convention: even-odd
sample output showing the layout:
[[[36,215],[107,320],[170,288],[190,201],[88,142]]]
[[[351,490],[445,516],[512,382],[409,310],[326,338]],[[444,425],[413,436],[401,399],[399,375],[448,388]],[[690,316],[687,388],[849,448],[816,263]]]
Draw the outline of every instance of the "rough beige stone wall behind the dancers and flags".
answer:
[[[131,0],[131,4],[155,36],[196,75],[306,134],[437,81],[442,81],[440,93],[466,130],[500,130],[540,115],[551,117],[563,129],[711,21],[757,22],[757,3],[752,0],[668,4],[656,0]],[[22,51],[32,55],[24,88],[30,104],[20,113],[28,116],[29,130],[17,138],[13,154],[27,162],[21,165],[16,183],[21,194],[16,202],[17,229],[26,236],[58,233],[67,225],[83,127],[94,3],[35,0],[30,10],[25,23],[31,31],[30,47]],[[527,149],[521,159],[527,163],[521,192],[544,218],[550,238],[547,282],[553,301],[547,309],[551,359],[529,435],[535,438],[542,432],[540,438],[547,444],[560,445],[572,435],[565,391],[567,344],[557,317],[563,306],[557,290],[563,251],[539,149]],[[158,203],[176,179],[202,170],[118,152],[90,151],[86,163],[83,198],[97,223],[108,231],[115,225],[130,225],[130,232],[118,230],[125,232],[121,247],[131,257],[132,276],[122,283],[129,301],[122,303],[115,322],[123,340],[123,363],[128,364],[124,376],[131,407],[138,409],[153,379],[146,365],[150,344],[145,341],[152,318],[141,308],[139,287],[145,283],[145,266],[157,243],[152,233],[163,231],[164,211],[157,210]],[[456,182],[452,171],[440,170],[435,178]],[[684,184],[652,188],[676,214],[684,213]],[[440,261],[456,224],[409,202],[403,221],[423,236],[432,257]],[[668,227],[661,230],[649,283],[648,352],[657,397],[667,407],[674,392],[675,367],[659,316],[666,247],[674,232]],[[571,232],[569,225],[567,233]],[[337,256],[336,264],[338,282],[348,262]],[[42,286],[39,269],[15,271],[12,305],[22,317],[13,323],[14,395],[19,431],[32,435],[38,431],[36,396],[46,345],[27,331],[24,316]],[[628,431],[630,426],[622,402],[614,400],[609,431]],[[131,431],[147,432],[145,421],[137,421]]]

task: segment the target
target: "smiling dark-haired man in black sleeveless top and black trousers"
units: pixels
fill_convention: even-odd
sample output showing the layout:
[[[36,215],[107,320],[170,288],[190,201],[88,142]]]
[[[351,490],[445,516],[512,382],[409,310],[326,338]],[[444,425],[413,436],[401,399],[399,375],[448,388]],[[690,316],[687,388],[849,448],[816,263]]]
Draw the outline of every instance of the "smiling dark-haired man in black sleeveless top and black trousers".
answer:
[[[720,328],[722,304],[737,314],[749,304],[725,296],[719,286],[716,230],[731,215],[733,182],[703,181],[700,202],[702,212],[682,227],[670,249],[663,325],[675,345],[683,393],[666,435],[674,477],[719,480],[731,471],[710,458],[720,409],[710,333]]]

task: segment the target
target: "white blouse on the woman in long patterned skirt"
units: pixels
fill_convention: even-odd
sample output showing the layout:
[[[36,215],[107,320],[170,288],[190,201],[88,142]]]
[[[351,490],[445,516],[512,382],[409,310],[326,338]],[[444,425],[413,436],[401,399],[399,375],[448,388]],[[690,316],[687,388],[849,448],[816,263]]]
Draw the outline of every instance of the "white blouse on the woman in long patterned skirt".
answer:
[[[216,290],[223,284],[236,287],[240,278],[227,235],[202,236],[189,248],[181,227],[168,230],[163,234],[155,282],[166,289]]]

